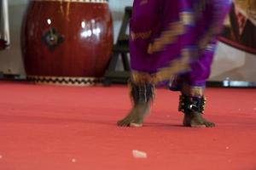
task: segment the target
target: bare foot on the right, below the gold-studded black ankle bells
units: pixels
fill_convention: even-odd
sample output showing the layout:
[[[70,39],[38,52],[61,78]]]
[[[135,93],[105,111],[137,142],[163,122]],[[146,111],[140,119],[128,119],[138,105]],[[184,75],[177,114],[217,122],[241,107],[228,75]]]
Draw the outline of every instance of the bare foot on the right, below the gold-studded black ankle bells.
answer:
[[[208,122],[199,112],[185,114],[183,125],[185,127],[215,127],[213,122]]]

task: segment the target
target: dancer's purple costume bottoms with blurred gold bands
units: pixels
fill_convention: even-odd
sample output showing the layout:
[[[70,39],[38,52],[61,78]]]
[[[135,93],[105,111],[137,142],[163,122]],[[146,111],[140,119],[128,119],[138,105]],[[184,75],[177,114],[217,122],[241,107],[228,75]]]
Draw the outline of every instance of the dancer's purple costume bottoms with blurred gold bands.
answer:
[[[230,0],[135,0],[131,79],[204,87]],[[177,81],[178,79],[178,81]]]

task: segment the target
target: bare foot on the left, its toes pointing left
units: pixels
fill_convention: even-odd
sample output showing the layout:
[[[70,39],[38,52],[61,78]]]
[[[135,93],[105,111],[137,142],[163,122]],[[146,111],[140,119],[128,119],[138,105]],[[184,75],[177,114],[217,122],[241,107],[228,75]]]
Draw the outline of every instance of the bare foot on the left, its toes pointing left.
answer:
[[[129,114],[124,119],[117,122],[119,127],[142,127],[144,117],[149,111],[149,102],[134,105]]]

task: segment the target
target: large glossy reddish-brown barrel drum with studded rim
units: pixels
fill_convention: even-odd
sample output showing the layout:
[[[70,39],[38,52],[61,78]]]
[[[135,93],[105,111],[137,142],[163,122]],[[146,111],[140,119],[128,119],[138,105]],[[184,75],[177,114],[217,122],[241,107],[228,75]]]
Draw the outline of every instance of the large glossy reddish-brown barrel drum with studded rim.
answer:
[[[113,21],[107,0],[32,0],[21,35],[28,79],[94,84],[110,59]]]

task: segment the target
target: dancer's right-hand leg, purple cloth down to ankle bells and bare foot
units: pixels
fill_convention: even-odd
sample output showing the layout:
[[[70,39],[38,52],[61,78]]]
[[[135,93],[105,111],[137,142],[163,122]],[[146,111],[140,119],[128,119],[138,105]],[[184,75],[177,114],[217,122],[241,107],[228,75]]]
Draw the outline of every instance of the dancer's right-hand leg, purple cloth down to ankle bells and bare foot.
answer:
[[[183,125],[187,127],[215,126],[202,116],[206,104],[204,89],[211,72],[216,36],[221,31],[225,15],[229,12],[230,0],[206,2],[201,11],[195,11],[199,14],[194,31],[197,36],[191,45],[197,47],[199,54],[190,64],[191,71],[176,77],[171,87],[181,91],[179,111],[184,113]]]

